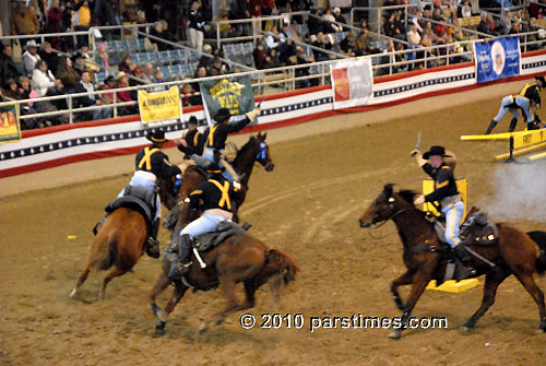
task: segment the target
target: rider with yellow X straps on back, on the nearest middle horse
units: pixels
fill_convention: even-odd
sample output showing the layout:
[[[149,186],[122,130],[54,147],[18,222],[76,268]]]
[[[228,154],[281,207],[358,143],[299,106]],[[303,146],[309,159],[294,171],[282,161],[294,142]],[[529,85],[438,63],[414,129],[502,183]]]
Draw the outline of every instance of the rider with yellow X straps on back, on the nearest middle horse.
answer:
[[[234,212],[234,196],[239,189],[237,182],[230,182],[222,175],[223,167],[211,163],[206,167],[209,179],[197,187],[186,199],[194,209],[203,208],[203,214],[189,223],[180,233],[178,245],[179,264],[175,262],[168,276],[174,278],[185,273],[191,267],[190,253],[192,239],[201,234],[213,232],[223,221],[232,221]]]

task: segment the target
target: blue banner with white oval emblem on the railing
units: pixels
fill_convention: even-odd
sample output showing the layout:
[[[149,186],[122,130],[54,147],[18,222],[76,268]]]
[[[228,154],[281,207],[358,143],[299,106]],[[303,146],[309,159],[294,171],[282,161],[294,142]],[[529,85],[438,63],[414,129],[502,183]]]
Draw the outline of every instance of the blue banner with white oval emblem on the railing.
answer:
[[[478,83],[520,74],[520,38],[518,36],[474,43]]]

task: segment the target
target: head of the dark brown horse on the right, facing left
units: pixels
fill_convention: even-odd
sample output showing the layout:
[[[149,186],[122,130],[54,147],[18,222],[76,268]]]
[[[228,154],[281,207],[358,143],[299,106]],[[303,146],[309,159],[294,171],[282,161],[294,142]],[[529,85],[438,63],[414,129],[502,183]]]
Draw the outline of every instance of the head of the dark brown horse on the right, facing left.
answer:
[[[403,190],[397,193],[392,189],[393,185],[388,184],[383,190],[366,209],[358,222],[360,227],[370,227],[377,223],[388,221],[404,210],[404,206],[411,204],[413,206],[413,198],[415,192]]]

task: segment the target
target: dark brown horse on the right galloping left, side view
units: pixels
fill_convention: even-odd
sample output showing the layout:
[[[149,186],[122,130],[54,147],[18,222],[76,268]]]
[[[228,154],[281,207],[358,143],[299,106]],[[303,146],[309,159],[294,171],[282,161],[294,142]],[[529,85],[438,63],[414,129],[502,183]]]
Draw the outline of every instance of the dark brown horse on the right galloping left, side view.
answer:
[[[383,191],[359,220],[361,227],[392,220],[399,229],[404,245],[404,263],[407,271],[392,282],[391,292],[397,308],[403,311],[404,326],[407,324],[413,308],[430,280],[443,279],[448,252],[447,245],[440,243],[425,213],[414,206],[414,196],[415,192],[408,190],[394,192],[392,185],[385,185]],[[513,274],[538,306],[541,322],[537,332],[546,332],[544,295],[533,279],[535,271],[539,274],[546,271],[546,240],[535,243],[527,234],[507,223],[498,223],[497,227],[499,231],[497,244],[470,246],[474,252],[483,257],[472,259],[472,264],[476,269],[474,276],[486,274],[486,279],[482,305],[461,330],[467,331],[474,328],[477,320],[494,304],[497,287]],[[495,265],[491,267],[486,261]],[[397,287],[410,284],[412,290],[404,304]],[[399,339],[403,328],[396,329],[389,337]]]

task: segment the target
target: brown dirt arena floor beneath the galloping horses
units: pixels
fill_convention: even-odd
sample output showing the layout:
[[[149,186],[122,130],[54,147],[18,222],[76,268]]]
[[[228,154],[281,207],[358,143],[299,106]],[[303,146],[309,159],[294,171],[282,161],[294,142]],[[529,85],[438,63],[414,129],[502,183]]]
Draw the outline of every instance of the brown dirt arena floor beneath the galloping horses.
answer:
[[[360,121],[347,130],[272,143],[275,170],[254,170],[241,216],[253,224],[252,235],[293,256],[301,272],[277,305],[268,286],[258,292],[258,304],[249,311],[257,326],[250,330],[241,328],[237,312],[198,335],[201,320],[224,300],[217,291],[188,292],[173,312],[166,335],[153,338],[156,319],[146,294],[161,262],[149,257],[142,257],[133,273],[115,279],[104,302],[93,302],[102,273],[92,274],[81,290],[88,302],[68,297],[88,253],[91,227],[128,175],[0,199],[0,364],[544,365],[546,334],[534,334],[537,307],[513,278],[500,286],[496,304],[468,334],[458,328],[477,309],[483,279],[462,294],[426,291],[423,295],[414,315],[447,317],[447,329],[407,330],[399,341],[387,338],[388,329],[339,324],[310,331],[312,317],[400,316],[389,291],[391,281],[404,271],[394,224],[363,229],[357,220],[387,182],[420,190],[425,174],[410,157],[418,131],[423,150],[443,144],[456,153],[455,173],[468,181],[471,204],[522,229],[546,229],[541,197],[526,200],[531,190],[544,192],[541,172],[546,170],[546,161],[518,166],[494,163],[492,156],[507,151],[506,141],[460,141],[461,134],[485,130],[499,101],[389,123]],[[507,128],[505,120],[497,131]],[[524,180],[523,188],[518,179]],[[164,245],[168,241],[163,228],[159,238]],[[544,278],[537,283],[546,290]],[[162,296],[162,306],[169,293]],[[404,297],[407,293],[402,291]],[[285,319],[300,314],[304,323],[300,329],[288,328],[285,320],[280,329],[263,329],[262,314]]]

